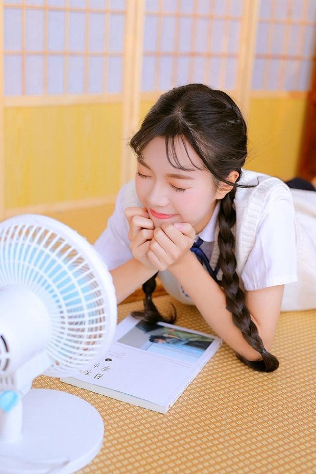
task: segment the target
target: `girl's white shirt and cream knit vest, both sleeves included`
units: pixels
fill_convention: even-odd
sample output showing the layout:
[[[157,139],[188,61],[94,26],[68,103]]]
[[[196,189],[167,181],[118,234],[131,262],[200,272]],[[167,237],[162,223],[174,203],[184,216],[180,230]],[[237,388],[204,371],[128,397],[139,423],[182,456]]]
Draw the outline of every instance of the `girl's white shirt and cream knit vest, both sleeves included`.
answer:
[[[278,178],[243,169],[239,184],[256,185],[237,188],[235,234],[236,272],[242,290],[256,290],[285,284],[282,311],[316,308],[316,192],[290,189]],[[108,226],[94,246],[109,270],[132,258],[128,222],[124,209],[142,206],[135,190],[135,180],[118,193],[115,211]],[[218,212],[198,234],[202,250],[216,267],[219,249]],[[196,239],[198,239],[196,236]],[[168,271],[158,274],[163,286],[177,300],[194,304],[180,283]],[[221,270],[218,278],[221,279]]]

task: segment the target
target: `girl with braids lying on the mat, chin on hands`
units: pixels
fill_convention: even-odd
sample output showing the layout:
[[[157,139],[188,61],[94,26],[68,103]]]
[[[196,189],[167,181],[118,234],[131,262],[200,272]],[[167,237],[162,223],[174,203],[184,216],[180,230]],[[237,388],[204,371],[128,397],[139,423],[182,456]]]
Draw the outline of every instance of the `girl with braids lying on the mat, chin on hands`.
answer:
[[[164,319],[152,302],[158,275],[242,362],[277,369],[269,351],[280,311],[316,308],[314,186],[290,189],[243,169],[242,114],[225,92],[203,84],[163,94],[130,146],[136,178],[119,191],[95,243],[117,303],[143,285],[144,312],[133,315],[174,323],[175,308]]]

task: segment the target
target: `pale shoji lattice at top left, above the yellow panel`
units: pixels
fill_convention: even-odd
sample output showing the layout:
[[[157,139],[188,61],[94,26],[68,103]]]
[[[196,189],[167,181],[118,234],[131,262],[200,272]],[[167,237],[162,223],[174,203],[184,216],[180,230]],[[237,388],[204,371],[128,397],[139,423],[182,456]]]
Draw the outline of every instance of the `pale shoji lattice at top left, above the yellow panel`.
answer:
[[[122,92],[123,0],[11,0],[3,15],[5,96]]]

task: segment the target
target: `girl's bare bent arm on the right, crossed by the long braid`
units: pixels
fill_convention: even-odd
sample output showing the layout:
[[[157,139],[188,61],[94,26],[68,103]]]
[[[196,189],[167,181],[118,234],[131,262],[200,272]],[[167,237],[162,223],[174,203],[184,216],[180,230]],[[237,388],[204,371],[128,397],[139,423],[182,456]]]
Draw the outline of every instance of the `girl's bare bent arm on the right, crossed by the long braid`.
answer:
[[[232,313],[226,309],[224,290],[213,280],[192,252],[187,252],[181,261],[171,265],[168,270],[179,280],[205,321],[220,338],[249,361],[262,359],[233,323]],[[268,352],[281,311],[283,289],[284,285],[278,285],[245,292],[245,303],[251,319],[256,324],[259,336]]]

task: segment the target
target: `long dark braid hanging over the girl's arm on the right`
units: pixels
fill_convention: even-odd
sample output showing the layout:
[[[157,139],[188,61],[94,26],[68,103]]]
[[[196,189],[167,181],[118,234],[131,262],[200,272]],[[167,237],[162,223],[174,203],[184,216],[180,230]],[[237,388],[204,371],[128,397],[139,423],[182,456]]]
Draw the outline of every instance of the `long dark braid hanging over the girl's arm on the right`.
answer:
[[[219,234],[218,246],[220,250],[219,267],[223,272],[222,286],[226,295],[226,304],[228,311],[231,311],[233,323],[241,330],[244,339],[256,351],[261,353],[262,361],[248,361],[240,354],[237,357],[249,367],[262,372],[272,372],[279,366],[275,356],[267,352],[259,336],[257,326],[250,318],[250,312],[245,305],[245,294],[239,287],[239,277],[236,273],[236,258],[234,255],[235,237],[231,231],[236,222],[236,211],[233,203],[236,194],[234,187],[221,200],[220,211],[218,215]]]

